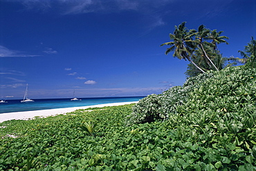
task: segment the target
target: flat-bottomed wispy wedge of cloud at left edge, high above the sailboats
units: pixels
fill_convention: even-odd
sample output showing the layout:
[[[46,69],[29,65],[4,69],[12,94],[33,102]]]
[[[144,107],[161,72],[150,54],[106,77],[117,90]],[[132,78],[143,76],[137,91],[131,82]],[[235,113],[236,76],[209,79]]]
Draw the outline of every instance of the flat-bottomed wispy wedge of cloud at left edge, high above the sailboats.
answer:
[[[39,57],[39,55],[24,54],[24,52],[0,46],[0,57]]]

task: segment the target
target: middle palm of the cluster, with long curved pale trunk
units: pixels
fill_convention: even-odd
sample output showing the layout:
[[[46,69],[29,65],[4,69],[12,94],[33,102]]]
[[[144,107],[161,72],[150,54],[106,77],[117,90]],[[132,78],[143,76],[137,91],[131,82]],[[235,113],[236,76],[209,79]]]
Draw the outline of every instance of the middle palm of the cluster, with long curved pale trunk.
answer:
[[[211,63],[211,65],[215,68],[215,70],[219,71],[219,69],[214,65],[212,60],[208,57],[208,54],[205,52],[205,48],[203,47],[204,45],[206,45],[206,43],[203,42],[203,39],[205,39],[205,40],[210,39],[208,37],[208,34],[210,34],[210,30],[205,28],[205,26],[203,26],[203,25],[199,26],[197,32],[196,32],[196,30],[190,30],[190,36],[196,37],[196,39],[194,40],[194,43],[199,45],[199,48],[201,48],[204,57],[207,59],[205,61],[209,61]],[[209,46],[209,44],[208,44],[208,46]],[[208,63],[209,66],[210,66],[210,63]]]

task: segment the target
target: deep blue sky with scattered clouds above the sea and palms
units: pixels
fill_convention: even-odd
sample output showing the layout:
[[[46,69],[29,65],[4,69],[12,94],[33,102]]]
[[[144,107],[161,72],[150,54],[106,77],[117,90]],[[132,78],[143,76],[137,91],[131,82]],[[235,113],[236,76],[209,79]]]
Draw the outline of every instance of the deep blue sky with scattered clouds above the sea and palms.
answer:
[[[256,37],[255,0],[0,0],[0,99],[122,97],[185,82],[174,26],[223,31],[223,57]]]

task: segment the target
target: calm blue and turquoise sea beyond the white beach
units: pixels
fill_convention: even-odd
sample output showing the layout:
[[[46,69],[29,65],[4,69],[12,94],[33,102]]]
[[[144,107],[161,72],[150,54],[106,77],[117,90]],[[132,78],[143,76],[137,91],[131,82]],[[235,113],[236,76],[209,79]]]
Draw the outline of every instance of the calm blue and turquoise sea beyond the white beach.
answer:
[[[32,103],[21,103],[21,100],[6,100],[8,103],[0,103],[0,114],[7,112],[72,108],[105,103],[139,101],[140,99],[143,99],[143,97],[103,97],[81,99],[82,101],[71,101],[71,99],[34,99],[35,102]]]

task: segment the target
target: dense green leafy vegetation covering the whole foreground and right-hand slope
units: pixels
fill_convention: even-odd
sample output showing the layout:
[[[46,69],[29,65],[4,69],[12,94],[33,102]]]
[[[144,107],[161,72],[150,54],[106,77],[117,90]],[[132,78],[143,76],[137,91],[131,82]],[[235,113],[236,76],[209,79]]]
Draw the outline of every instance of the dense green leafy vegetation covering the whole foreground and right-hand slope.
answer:
[[[256,170],[255,71],[207,72],[136,105],[5,121],[0,170]]]

